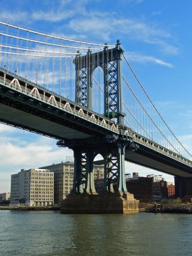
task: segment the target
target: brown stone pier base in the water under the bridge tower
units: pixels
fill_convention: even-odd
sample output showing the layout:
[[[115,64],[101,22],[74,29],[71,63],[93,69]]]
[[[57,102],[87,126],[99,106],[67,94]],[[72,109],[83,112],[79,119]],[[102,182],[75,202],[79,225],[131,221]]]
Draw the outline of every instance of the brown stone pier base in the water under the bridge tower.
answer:
[[[133,214],[139,212],[138,202],[130,193],[70,194],[61,202],[61,213]]]

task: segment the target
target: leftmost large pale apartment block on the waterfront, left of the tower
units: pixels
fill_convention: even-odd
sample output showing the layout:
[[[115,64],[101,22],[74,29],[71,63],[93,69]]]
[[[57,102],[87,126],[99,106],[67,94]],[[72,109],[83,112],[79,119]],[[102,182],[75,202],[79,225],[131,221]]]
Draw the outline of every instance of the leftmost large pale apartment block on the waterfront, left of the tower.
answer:
[[[22,169],[11,175],[11,204],[53,205],[54,172],[44,169]]]

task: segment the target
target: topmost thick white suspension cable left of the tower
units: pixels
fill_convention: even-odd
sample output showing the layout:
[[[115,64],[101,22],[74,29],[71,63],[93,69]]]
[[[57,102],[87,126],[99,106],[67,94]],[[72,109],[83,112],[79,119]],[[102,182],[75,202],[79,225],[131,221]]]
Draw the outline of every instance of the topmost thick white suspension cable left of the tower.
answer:
[[[96,45],[96,46],[106,46],[106,44],[98,44],[96,42],[84,42],[84,41],[73,40],[73,39],[69,39],[69,38],[63,38],[63,36],[53,36],[53,35],[50,35],[50,34],[30,30],[28,28],[22,28],[22,27],[14,26],[14,25],[11,25],[11,24],[5,23],[5,22],[0,22],[0,24],[5,25],[5,26],[9,26],[11,28],[17,28],[18,30],[24,30],[24,31],[27,31],[27,32],[31,32],[33,34],[39,34],[40,36],[47,36],[47,37],[50,37],[50,38],[65,40],[67,42],[75,42],[75,43],[78,43],[78,44],[90,44],[90,45]],[[107,46],[115,47],[115,44],[114,45],[113,44],[107,44]]]

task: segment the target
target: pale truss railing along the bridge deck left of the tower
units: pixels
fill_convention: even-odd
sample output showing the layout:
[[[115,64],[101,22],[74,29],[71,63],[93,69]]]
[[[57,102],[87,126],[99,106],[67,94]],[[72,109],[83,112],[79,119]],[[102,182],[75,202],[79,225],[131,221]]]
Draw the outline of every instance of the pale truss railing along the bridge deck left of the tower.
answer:
[[[88,108],[80,106],[71,100],[67,100],[67,98],[62,97],[59,94],[55,94],[46,88],[38,86],[27,79],[22,79],[22,77],[14,75],[11,72],[9,73],[13,79],[7,79],[7,71],[5,72],[5,70],[2,68],[0,68],[0,71],[3,71],[3,76],[2,73],[0,75],[1,85],[7,88],[11,88],[11,90],[20,91],[22,94],[26,94],[31,98],[35,98],[36,100],[40,100],[46,104],[50,104],[59,109],[65,110],[67,113],[71,113],[72,115],[81,117],[82,119],[86,119],[91,123],[113,131],[113,133],[119,134],[119,126],[117,123],[111,121],[110,119],[107,119],[102,115],[98,115],[98,113],[95,113],[92,110],[88,110]]]

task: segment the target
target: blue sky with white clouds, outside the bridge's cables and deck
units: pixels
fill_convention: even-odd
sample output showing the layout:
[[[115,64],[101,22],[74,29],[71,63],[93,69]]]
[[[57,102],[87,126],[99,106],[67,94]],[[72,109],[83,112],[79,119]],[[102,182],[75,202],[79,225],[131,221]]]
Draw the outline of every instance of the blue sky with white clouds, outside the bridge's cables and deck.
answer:
[[[172,131],[192,152],[192,1],[185,0],[1,0],[0,20],[65,38],[115,44]],[[56,140],[0,124],[0,193],[11,174],[73,156]],[[126,163],[126,172],[162,174]],[[173,177],[163,174],[167,181]]]

